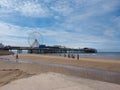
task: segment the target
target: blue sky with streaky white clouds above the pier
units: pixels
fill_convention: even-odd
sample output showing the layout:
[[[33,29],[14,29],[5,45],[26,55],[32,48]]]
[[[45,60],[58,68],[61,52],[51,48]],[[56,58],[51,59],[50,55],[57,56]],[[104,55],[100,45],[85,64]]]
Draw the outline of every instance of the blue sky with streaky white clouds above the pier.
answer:
[[[120,0],[0,0],[0,43],[120,51]],[[41,43],[41,41],[40,41]]]

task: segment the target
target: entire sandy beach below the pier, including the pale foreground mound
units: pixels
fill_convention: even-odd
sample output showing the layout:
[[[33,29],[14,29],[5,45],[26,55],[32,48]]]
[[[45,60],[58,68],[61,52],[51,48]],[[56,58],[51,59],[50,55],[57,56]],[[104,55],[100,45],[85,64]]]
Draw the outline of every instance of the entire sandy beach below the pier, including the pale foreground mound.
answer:
[[[39,82],[40,84],[49,81],[47,84],[51,82],[50,86],[53,85],[53,88],[55,89],[53,88],[47,89],[46,86],[39,87],[39,89],[35,89],[37,88],[37,86],[35,86],[33,89],[28,88],[23,90],[40,90],[40,88],[42,90],[83,90],[83,88],[85,88],[84,90],[88,90],[88,89],[89,90],[119,90],[120,89],[119,76],[114,78],[113,80],[112,77],[110,77],[111,80],[106,78],[105,78],[106,80],[104,80],[103,78],[104,75],[101,77],[101,75],[99,76],[85,71],[78,72],[76,70],[66,68],[67,66],[73,66],[73,67],[82,67],[88,69],[120,73],[119,60],[104,60],[104,59],[90,59],[90,58],[80,58],[79,60],[77,60],[77,59],[71,59],[61,56],[48,56],[48,55],[36,55],[36,54],[19,54],[18,63],[10,60],[16,61],[15,56],[13,55],[0,56],[0,86],[1,86],[0,90],[8,90],[10,86],[15,87],[16,90],[21,90],[18,89],[18,87],[23,88],[22,82],[29,82],[29,80],[32,80],[33,78],[39,78],[41,81]],[[29,63],[22,63],[22,61]],[[34,62],[34,63],[30,63],[30,62]],[[42,64],[44,65],[37,64],[38,62],[42,62]],[[50,65],[60,65],[60,66],[52,67]],[[62,65],[64,65],[64,67],[62,67]],[[47,80],[42,81],[41,79],[43,77],[44,80],[47,79],[48,81]],[[62,79],[65,79],[65,81],[62,81]],[[93,80],[89,80],[89,79],[93,79]],[[34,80],[36,82],[37,79]],[[55,87],[55,83],[57,83],[57,80],[60,81],[59,84]],[[81,82],[78,83],[79,81]],[[18,83],[14,85],[14,83],[16,82]],[[71,87],[68,87],[69,83],[67,82],[70,82]],[[92,84],[89,85],[89,83],[91,82]],[[30,83],[30,85],[31,84],[32,83]],[[25,86],[27,85],[29,85],[29,83],[25,84]],[[59,85],[61,86],[59,87]],[[62,89],[61,87],[64,87],[64,85],[66,85],[65,86],[66,88]],[[103,87],[101,87],[101,85]],[[106,85],[108,85],[108,87],[106,87]],[[97,89],[97,87],[99,89]],[[13,90],[13,88],[9,90]]]

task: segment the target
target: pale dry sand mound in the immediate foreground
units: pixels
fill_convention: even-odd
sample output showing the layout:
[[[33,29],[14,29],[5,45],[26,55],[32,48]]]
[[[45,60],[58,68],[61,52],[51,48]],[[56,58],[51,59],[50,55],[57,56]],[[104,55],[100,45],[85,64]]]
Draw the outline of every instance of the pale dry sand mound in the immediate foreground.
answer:
[[[11,82],[0,90],[120,90],[120,85],[57,73],[44,73]]]

